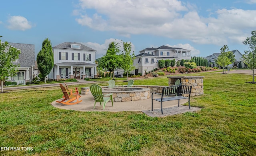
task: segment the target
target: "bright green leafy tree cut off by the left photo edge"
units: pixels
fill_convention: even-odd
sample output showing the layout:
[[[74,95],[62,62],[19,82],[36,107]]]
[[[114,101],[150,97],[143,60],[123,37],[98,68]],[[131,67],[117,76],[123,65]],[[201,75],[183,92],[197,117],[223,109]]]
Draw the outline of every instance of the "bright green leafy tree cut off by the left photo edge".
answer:
[[[2,37],[2,36],[0,36]],[[12,62],[19,58],[20,50],[10,46],[8,42],[2,42],[0,40],[0,80],[1,80],[1,92],[4,92],[3,81],[6,77],[15,75],[18,70],[18,65]]]

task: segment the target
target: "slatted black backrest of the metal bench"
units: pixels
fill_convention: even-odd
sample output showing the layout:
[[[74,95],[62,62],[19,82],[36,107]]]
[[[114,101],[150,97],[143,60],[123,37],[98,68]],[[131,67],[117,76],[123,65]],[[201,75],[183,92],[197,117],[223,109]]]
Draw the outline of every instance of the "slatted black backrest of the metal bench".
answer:
[[[187,85],[174,85],[163,88],[162,96],[176,95],[181,96],[182,94],[189,94],[190,97],[192,86]]]

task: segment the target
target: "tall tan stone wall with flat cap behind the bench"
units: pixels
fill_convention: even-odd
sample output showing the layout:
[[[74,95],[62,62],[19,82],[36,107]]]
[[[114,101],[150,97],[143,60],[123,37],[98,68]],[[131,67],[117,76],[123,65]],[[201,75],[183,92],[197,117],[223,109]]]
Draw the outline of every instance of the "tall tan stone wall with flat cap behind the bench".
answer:
[[[204,76],[170,76],[169,86],[173,86],[176,80],[180,80],[182,85],[192,86],[190,96],[204,94]]]

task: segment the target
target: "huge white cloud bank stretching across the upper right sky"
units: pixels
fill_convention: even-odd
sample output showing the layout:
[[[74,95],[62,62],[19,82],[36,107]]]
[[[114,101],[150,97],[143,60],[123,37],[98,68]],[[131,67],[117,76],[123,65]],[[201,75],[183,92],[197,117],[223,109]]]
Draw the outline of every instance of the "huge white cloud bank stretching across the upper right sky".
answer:
[[[178,0],[80,0],[80,6],[86,14],[80,12],[79,24],[126,37],[152,34],[220,46],[242,44],[242,38],[256,27],[256,10],[212,10],[203,17],[194,4]]]

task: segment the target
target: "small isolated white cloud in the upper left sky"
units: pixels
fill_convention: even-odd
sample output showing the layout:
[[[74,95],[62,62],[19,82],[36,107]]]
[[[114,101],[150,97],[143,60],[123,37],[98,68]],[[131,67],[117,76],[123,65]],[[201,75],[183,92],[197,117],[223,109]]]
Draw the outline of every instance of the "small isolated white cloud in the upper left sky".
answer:
[[[32,25],[30,22],[23,16],[10,16],[8,19],[8,29],[11,30],[22,30],[31,29]]]

